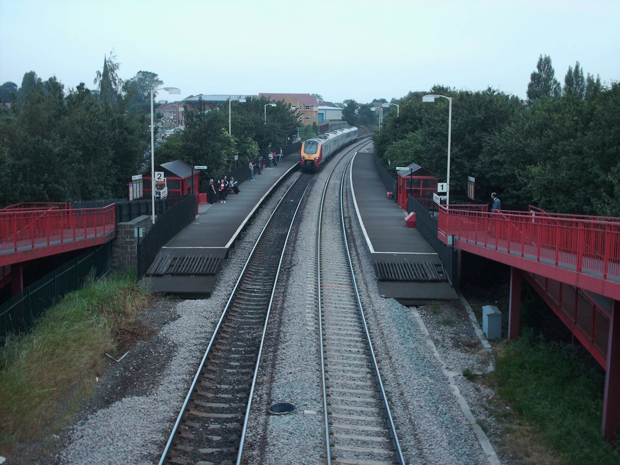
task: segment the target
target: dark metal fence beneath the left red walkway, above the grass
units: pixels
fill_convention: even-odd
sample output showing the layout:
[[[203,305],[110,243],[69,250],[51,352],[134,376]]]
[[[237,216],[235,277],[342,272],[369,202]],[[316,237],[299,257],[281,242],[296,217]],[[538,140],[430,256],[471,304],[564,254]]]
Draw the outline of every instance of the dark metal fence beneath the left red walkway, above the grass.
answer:
[[[43,312],[66,294],[112,269],[112,241],[88,250],[0,305],[0,341],[27,331]]]

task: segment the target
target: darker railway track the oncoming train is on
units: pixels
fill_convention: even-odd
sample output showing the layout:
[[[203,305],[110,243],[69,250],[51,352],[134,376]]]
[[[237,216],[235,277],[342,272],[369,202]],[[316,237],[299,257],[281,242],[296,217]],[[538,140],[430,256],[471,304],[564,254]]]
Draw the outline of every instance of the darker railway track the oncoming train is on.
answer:
[[[250,252],[201,360],[160,465],[239,463],[281,257],[311,180],[311,175],[299,175]]]

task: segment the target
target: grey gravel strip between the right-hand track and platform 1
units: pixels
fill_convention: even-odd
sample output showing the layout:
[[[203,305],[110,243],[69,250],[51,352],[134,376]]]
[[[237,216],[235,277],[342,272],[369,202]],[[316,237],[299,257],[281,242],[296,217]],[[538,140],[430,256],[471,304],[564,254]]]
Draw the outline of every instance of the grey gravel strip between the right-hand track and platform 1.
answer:
[[[407,463],[486,464],[412,312],[394,299],[381,298],[352,200],[346,205],[362,304]],[[474,360],[467,363],[476,366]]]

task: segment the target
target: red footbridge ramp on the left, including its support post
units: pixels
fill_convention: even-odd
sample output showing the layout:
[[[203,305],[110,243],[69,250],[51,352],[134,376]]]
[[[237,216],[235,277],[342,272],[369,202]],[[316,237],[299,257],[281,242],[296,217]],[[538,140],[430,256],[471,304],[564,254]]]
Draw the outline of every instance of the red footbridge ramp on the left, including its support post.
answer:
[[[30,260],[98,246],[115,236],[114,204],[72,208],[71,203],[17,203],[0,210],[0,288],[24,287],[22,270]]]

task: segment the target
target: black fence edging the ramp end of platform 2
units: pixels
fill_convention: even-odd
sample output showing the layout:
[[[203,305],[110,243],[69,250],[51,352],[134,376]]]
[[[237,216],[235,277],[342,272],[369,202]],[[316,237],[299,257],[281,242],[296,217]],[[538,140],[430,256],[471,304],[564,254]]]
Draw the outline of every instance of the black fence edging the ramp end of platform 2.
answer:
[[[186,195],[174,208],[164,211],[157,218],[153,227],[136,247],[136,259],[138,261],[138,279],[146,274],[153,260],[166,242],[179,234],[188,224],[196,218],[196,196]]]

